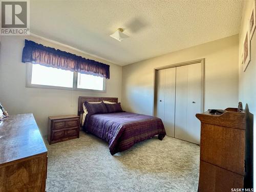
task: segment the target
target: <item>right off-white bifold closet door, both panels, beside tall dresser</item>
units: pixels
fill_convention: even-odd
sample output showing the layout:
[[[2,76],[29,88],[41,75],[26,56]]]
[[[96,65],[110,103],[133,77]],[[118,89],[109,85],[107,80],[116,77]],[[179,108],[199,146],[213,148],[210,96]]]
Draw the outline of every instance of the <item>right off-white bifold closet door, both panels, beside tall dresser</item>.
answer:
[[[175,137],[200,144],[201,63],[177,67]]]

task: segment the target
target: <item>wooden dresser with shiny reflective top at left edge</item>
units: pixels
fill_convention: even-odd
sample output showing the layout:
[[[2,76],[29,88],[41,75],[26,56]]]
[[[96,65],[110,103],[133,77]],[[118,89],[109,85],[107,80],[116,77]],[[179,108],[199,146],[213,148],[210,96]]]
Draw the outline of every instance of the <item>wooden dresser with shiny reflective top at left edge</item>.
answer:
[[[0,121],[0,191],[45,192],[47,148],[33,114]]]

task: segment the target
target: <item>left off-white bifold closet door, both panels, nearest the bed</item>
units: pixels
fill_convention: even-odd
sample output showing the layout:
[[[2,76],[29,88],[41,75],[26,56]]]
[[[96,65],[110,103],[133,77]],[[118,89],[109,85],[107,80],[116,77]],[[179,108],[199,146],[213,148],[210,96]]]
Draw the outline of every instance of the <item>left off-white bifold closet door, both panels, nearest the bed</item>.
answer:
[[[159,70],[157,73],[156,116],[161,118],[166,134],[174,137],[176,68]]]

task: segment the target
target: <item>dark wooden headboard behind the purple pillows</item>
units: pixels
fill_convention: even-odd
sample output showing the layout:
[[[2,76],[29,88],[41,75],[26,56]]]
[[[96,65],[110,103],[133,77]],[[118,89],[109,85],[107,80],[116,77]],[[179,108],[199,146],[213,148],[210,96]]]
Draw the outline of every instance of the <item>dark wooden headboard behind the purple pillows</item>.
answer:
[[[88,102],[98,102],[98,101],[110,101],[110,102],[118,102],[118,98],[117,97],[83,97],[83,96],[79,96],[78,98],[78,113],[77,115],[80,116],[83,113],[83,107],[82,104],[85,101]]]

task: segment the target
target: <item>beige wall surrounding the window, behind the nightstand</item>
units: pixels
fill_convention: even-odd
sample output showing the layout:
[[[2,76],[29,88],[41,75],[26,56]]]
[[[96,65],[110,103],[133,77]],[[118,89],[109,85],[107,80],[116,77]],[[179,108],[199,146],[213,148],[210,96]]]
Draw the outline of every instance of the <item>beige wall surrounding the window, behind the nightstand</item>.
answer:
[[[33,113],[41,134],[46,135],[48,116],[77,114],[78,96],[118,97],[121,101],[122,68],[120,66],[35,37],[26,38],[45,46],[109,64],[111,78],[106,81],[106,93],[25,88],[26,64],[21,62],[24,38],[22,36],[1,38],[0,101],[9,114]]]

